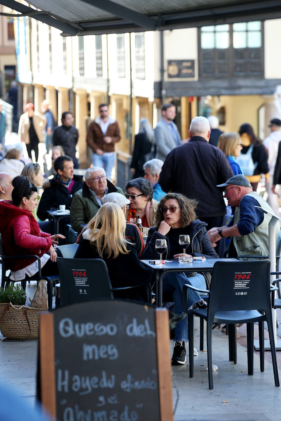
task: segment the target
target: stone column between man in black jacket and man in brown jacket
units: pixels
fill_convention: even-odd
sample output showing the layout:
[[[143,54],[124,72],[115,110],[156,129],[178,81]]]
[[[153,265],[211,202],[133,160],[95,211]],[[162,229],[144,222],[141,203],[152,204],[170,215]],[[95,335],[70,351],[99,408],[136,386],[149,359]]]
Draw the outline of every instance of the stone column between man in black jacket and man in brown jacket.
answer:
[[[88,118],[88,100],[87,100],[87,91],[82,89],[75,90],[75,105],[76,105],[76,115],[75,115],[75,126],[79,132],[79,140],[76,149],[79,150],[79,163],[80,168],[88,168],[89,162],[87,157],[87,144],[86,144],[86,135],[87,135],[87,118]]]

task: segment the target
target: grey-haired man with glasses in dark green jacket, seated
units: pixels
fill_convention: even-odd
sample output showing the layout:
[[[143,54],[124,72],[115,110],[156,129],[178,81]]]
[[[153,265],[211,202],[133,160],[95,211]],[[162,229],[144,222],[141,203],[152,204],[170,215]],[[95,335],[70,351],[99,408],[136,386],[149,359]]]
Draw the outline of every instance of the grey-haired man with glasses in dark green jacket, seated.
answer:
[[[111,181],[107,180],[103,168],[88,168],[84,178],[83,187],[73,196],[70,207],[71,226],[76,232],[80,232],[83,226],[96,215],[102,206],[102,197],[113,192],[124,195],[120,187],[115,187]]]

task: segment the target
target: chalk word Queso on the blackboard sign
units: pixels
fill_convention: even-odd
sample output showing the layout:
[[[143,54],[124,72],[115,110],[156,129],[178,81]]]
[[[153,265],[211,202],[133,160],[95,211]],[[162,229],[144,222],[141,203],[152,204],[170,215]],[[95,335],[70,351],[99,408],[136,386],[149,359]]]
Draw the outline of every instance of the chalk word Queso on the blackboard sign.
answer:
[[[73,323],[73,320],[69,317],[62,319],[59,322],[59,333],[63,338],[70,336],[77,336],[82,338],[83,336],[91,335],[116,335],[117,326],[113,323],[103,325],[102,323]]]

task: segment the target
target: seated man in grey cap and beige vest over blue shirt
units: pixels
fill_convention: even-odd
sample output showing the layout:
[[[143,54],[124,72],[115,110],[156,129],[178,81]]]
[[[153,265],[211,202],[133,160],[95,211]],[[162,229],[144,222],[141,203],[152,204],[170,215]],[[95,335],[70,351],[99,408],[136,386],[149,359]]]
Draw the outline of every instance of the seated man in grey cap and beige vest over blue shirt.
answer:
[[[249,180],[242,174],[230,177],[217,187],[224,188],[224,197],[228,200],[228,205],[236,209],[228,225],[214,227],[208,231],[213,246],[215,247],[221,238],[230,237],[228,257],[268,256],[268,223],[271,217],[255,206],[274,214],[272,208],[260,195],[253,192]],[[277,224],[276,248],[280,239],[281,230]]]

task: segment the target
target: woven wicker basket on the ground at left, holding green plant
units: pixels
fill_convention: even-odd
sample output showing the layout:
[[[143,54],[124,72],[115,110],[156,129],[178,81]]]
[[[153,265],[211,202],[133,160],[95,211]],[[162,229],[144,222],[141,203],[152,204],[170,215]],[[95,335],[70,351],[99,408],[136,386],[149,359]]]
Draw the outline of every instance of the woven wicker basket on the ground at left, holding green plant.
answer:
[[[26,306],[13,306],[12,303],[0,303],[0,331],[9,339],[36,339],[40,312],[46,309],[35,309]]]

